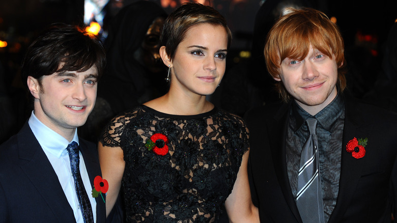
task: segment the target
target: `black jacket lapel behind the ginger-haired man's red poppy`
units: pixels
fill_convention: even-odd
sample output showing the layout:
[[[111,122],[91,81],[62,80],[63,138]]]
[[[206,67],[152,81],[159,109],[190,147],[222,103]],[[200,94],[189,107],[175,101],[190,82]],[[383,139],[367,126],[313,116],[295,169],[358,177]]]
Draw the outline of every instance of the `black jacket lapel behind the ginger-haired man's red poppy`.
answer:
[[[356,159],[351,153],[346,151],[346,145],[354,137],[362,138],[367,137],[368,132],[365,120],[362,117],[362,111],[358,110],[355,106],[355,102],[349,97],[345,97],[346,112],[345,112],[345,123],[343,130],[342,140],[342,157],[341,157],[341,176],[339,178],[339,192],[336,200],[336,205],[332,214],[329,218],[329,223],[341,221],[341,217],[348,209],[348,205],[351,202],[354,190],[361,177],[361,170],[363,164],[367,159],[360,158]]]

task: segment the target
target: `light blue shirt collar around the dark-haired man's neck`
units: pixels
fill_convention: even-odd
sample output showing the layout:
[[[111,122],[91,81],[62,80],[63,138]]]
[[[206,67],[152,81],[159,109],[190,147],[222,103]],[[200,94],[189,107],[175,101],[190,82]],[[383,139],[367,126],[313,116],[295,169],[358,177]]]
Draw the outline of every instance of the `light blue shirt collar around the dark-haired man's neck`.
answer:
[[[74,136],[72,141],[68,142],[66,138],[64,138],[60,134],[56,133],[54,130],[44,125],[35,116],[34,111],[32,111],[32,115],[29,118],[28,123],[37,141],[39,142],[41,148],[43,148],[43,150],[52,153],[56,157],[60,157],[62,155],[64,150],[68,147],[69,143],[75,141],[77,144],[79,144],[77,129],[74,131]]]

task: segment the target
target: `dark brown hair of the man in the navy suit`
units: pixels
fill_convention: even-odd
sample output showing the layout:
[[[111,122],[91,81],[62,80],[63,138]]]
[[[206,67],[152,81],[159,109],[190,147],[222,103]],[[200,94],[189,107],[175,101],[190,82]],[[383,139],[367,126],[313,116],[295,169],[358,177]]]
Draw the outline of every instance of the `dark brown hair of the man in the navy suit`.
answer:
[[[95,65],[98,79],[103,73],[106,55],[97,36],[80,26],[57,24],[45,30],[27,48],[21,67],[22,81],[27,87],[27,77],[36,78],[55,72],[84,72]]]

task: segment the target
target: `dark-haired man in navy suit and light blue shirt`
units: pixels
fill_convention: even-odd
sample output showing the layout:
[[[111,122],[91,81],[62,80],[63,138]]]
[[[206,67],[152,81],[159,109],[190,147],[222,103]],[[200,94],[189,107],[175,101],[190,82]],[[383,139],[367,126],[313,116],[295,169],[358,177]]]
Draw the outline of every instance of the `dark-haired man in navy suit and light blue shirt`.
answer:
[[[21,75],[34,108],[0,146],[0,222],[105,222],[105,196],[91,192],[97,149],[77,135],[104,65],[100,41],[76,26],[53,26],[27,49]]]

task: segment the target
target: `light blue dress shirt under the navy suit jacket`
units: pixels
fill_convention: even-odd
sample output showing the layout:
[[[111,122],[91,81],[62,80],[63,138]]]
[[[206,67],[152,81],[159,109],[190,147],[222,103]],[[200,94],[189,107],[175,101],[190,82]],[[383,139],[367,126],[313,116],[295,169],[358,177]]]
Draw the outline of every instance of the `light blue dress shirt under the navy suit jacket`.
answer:
[[[44,125],[42,122],[40,122],[40,120],[37,119],[33,111],[31,117],[29,118],[28,123],[33,131],[33,134],[37,138],[37,141],[39,141],[41,148],[43,148],[44,153],[47,155],[47,158],[50,161],[52,168],[56,173],[56,176],[58,176],[62,189],[65,192],[65,196],[68,199],[70,207],[73,209],[76,222],[83,223],[84,220],[78,203],[76,188],[74,186],[74,179],[70,168],[69,154],[68,151],[66,150],[66,148],[71,142],[75,141],[77,144],[79,143],[77,136],[77,129],[74,132],[73,140],[71,142],[68,142],[66,138],[64,138],[63,136],[56,133],[55,131]],[[91,185],[90,183],[90,178],[88,177],[86,164],[84,163],[84,159],[81,155],[81,152],[79,152],[79,156],[80,156],[79,168],[80,168],[81,178],[84,184],[84,188],[86,188],[88,197],[90,199],[92,212],[94,215],[94,221],[96,222],[97,204],[95,198],[93,198],[91,195],[91,190],[93,188],[93,185]]]

